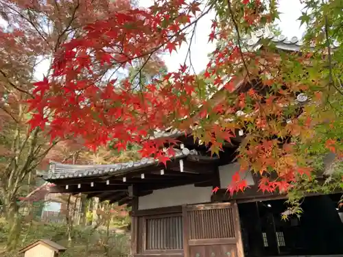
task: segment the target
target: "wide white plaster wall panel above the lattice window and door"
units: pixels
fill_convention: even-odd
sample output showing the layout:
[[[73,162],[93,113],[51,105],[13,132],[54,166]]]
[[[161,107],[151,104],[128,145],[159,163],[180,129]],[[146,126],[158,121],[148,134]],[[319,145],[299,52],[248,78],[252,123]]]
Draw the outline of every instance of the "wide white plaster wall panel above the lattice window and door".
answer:
[[[182,204],[203,204],[211,201],[212,186],[196,187],[193,184],[155,190],[150,195],[139,197],[139,210],[179,206]]]

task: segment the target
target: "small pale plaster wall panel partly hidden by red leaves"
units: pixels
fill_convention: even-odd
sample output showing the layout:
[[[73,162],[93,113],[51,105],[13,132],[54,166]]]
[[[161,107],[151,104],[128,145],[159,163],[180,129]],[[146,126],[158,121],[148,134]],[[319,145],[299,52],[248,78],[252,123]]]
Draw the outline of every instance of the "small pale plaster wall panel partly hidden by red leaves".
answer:
[[[226,188],[232,182],[233,175],[236,173],[236,171],[239,171],[239,167],[240,166],[238,162],[218,167],[221,188]],[[250,173],[250,171],[241,172],[239,174],[241,175],[241,178],[244,178],[246,180],[248,186],[252,186],[255,184],[254,178],[252,178],[252,173]]]

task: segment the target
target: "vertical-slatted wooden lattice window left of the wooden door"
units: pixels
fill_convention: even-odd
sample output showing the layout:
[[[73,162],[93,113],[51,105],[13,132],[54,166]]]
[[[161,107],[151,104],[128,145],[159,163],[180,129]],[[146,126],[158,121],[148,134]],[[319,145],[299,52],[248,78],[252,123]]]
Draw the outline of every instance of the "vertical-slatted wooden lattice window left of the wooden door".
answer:
[[[145,250],[183,249],[181,214],[146,218],[145,229]]]

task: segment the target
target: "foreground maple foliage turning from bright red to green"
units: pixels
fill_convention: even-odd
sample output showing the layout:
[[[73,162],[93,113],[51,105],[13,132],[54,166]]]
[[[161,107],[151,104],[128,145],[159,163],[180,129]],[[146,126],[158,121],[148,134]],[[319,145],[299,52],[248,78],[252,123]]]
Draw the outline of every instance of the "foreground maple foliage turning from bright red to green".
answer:
[[[119,150],[139,143],[141,156],[162,162],[169,158],[163,144],[169,140],[171,154],[176,142],[147,140],[157,129],[191,133],[212,154],[241,131],[237,160],[242,170],[261,175],[262,191],[287,192],[303,181],[314,182],[318,156],[333,151],[342,158],[343,49],[333,50],[342,43],[342,15],[340,0],[303,3],[300,21],[306,23],[307,34],[301,55],[276,53],[267,39],[258,51],[246,45],[247,35],[278,19],[274,0],[203,5],[197,0],[158,0],[147,9],[117,10],[107,19],[90,21],[80,28],[80,36],[58,46],[51,74],[35,84],[34,98],[27,101],[35,111],[32,130],[44,129],[51,140],[81,136],[93,149],[113,140]],[[180,63],[178,71],[145,84],[135,80],[141,69],[130,79],[120,79],[119,69],[131,64],[143,69],[152,56],[176,51],[211,10],[216,16],[209,41],[220,44],[203,77]],[[117,72],[104,79],[102,68]],[[209,78],[211,86],[205,81]],[[215,93],[211,99],[209,88]],[[309,99],[305,105],[296,100],[300,93]],[[237,171],[228,191],[244,188]]]

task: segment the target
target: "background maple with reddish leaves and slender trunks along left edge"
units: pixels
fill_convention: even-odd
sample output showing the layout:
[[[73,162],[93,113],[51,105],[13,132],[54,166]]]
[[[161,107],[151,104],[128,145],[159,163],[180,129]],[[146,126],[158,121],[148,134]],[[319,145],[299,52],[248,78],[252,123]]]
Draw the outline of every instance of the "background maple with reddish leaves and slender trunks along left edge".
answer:
[[[27,103],[38,101],[41,98],[36,95],[44,92],[34,86],[39,80],[37,75],[45,71],[46,75],[52,74],[54,66],[49,67],[49,60],[59,55],[66,42],[82,37],[85,25],[131,8],[126,0],[0,1],[0,197],[11,227],[9,250],[18,241],[21,225],[16,201],[32,190],[36,171],[46,169],[49,159],[73,162],[73,158],[88,151],[78,136],[49,140],[49,121],[54,123],[51,108],[44,110],[45,124],[35,126],[39,114]],[[158,53],[145,62],[152,67],[150,74],[156,62],[161,64]],[[94,73],[110,79],[111,66],[95,65]],[[82,71],[81,80],[82,76],[87,74]]]

